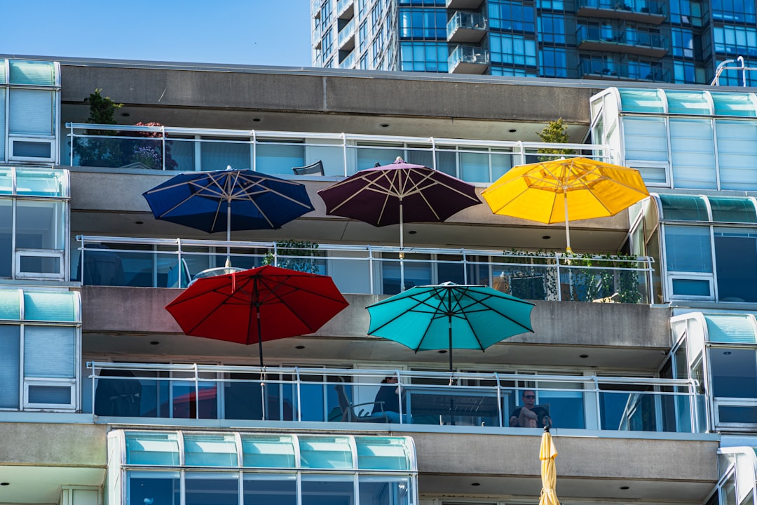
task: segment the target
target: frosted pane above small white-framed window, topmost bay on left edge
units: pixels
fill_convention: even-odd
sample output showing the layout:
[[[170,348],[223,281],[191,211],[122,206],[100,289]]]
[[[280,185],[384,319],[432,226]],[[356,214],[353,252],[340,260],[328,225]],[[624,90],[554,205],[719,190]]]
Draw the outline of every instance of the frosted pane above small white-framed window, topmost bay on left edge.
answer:
[[[10,93],[8,132],[15,135],[53,135],[53,92],[11,89]]]

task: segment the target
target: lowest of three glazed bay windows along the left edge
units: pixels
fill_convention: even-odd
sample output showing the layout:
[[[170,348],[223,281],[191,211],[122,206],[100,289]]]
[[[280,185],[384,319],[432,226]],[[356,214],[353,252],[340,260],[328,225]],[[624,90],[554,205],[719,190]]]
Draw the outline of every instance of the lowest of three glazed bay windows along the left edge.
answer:
[[[78,295],[2,288],[0,307],[0,409],[75,410]]]

